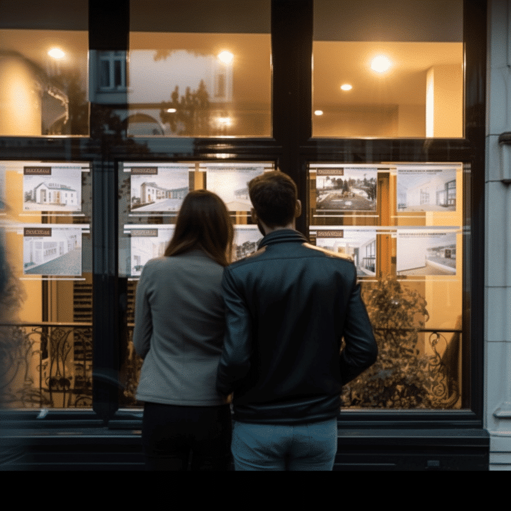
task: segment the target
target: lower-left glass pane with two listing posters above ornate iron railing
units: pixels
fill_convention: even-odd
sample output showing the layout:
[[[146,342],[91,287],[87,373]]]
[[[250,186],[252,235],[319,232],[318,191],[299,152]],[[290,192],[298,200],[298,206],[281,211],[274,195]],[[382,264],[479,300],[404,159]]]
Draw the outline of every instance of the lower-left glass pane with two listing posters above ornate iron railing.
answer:
[[[92,406],[92,179],[83,162],[1,161],[9,285],[2,402]]]

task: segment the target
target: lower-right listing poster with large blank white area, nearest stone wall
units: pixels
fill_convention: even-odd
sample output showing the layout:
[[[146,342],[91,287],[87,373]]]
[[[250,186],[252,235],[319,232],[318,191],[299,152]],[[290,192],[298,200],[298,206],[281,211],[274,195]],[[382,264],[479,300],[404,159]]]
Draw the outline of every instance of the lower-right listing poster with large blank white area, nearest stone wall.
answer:
[[[456,275],[457,228],[399,229],[398,275]]]

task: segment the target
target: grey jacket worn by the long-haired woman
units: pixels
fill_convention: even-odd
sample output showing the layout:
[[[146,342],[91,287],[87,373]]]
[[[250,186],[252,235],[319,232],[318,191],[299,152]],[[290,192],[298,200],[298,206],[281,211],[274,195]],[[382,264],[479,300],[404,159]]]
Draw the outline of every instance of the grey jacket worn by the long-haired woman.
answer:
[[[201,250],[150,260],[136,288],[133,344],[144,358],[136,399],[223,404],[215,381],[225,330],[223,267]]]

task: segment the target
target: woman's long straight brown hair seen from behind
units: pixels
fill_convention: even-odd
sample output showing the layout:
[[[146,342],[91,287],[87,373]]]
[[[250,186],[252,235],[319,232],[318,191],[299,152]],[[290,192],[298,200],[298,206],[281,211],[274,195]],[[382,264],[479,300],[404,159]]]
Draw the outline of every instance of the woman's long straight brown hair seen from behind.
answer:
[[[227,266],[233,238],[233,222],[223,200],[208,190],[194,190],[183,200],[174,236],[164,255],[169,257],[200,248],[218,264]]]

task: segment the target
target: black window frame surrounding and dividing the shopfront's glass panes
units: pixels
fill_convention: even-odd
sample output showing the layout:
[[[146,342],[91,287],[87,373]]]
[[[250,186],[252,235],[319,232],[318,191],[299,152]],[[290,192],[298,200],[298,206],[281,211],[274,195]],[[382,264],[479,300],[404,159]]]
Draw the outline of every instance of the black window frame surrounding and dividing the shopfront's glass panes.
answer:
[[[128,50],[129,1],[115,9],[89,0],[89,51]],[[486,2],[464,0],[464,137],[463,138],[313,138],[312,42],[313,1],[271,3],[272,136],[266,138],[128,138],[103,130],[100,110],[90,105],[88,137],[0,137],[3,160],[41,159],[89,162],[92,172],[93,251],[93,410],[50,410],[48,419],[74,424],[141,426],[141,413],[119,409],[120,342],[125,322],[125,284],[118,277],[118,165],[122,161],[274,161],[297,183],[306,202],[310,163],[406,161],[463,162],[470,166],[464,188],[463,341],[467,356],[462,381],[467,385],[461,410],[342,410],[345,427],[482,428],[483,426],[483,290],[484,158],[486,102]],[[125,105],[110,105],[112,109]],[[220,156],[222,155],[222,156]],[[308,235],[307,216],[297,229]],[[19,415],[23,424],[38,410]],[[45,424],[49,424],[45,422]],[[38,427],[41,422],[37,422]]]

